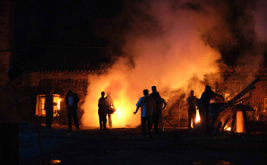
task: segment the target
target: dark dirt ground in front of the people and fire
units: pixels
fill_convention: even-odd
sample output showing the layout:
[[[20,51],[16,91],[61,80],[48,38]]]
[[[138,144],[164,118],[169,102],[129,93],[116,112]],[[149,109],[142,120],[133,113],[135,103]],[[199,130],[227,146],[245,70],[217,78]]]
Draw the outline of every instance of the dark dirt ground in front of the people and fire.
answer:
[[[248,139],[240,135],[201,137],[186,135],[188,129],[165,128],[163,137],[141,139],[140,128],[113,128],[101,131],[97,127],[80,127],[66,132],[66,125],[55,129],[41,128],[45,164],[198,164],[198,165],[251,165],[267,162],[266,138]],[[152,134],[153,135],[153,134]],[[30,123],[20,125],[21,165],[41,164],[38,134]],[[244,137],[244,136],[243,136]],[[246,139],[246,140],[245,140]],[[242,149],[218,149],[209,144],[252,144]],[[261,149],[253,147],[261,146]]]

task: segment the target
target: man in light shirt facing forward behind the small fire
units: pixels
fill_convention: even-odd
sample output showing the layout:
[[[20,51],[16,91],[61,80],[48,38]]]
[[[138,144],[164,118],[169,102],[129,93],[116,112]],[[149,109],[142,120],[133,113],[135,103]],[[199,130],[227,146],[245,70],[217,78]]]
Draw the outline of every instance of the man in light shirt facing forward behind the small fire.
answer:
[[[196,96],[194,96],[194,91],[190,90],[190,94],[186,99],[188,105],[188,129],[191,129],[191,123],[193,123],[193,128],[196,126],[197,109],[195,106]]]

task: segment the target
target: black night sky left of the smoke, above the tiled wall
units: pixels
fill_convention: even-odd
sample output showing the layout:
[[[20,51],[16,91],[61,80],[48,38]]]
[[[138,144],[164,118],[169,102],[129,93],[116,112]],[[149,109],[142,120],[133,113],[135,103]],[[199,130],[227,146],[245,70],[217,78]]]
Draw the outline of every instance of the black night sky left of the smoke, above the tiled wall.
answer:
[[[14,1],[13,63],[28,71],[98,69],[121,47],[96,31],[123,9],[122,1]],[[112,28],[112,27],[111,27]],[[53,46],[53,47],[50,47]],[[100,48],[68,48],[100,47]],[[102,48],[103,47],[103,48]]]

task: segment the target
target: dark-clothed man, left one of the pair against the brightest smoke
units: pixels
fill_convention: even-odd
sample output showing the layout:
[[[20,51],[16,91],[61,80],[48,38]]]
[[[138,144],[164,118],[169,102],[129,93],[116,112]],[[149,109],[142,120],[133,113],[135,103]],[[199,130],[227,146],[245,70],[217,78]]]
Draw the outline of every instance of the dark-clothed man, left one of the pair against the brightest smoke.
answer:
[[[105,92],[101,92],[101,98],[98,100],[98,116],[99,116],[99,125],[100,130],[109,130],[107,129],[107,114],[106,114],[106,99],[104,98]],[[102,129],[103,123],[103,129]]]

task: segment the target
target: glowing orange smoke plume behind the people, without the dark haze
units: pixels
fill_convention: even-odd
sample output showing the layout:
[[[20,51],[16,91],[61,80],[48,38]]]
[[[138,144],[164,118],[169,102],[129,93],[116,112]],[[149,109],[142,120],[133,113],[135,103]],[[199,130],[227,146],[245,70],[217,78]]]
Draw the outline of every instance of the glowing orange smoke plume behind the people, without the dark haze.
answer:
[[[124,56],[117,58],[107,74],[89,75],[83,125],[99,125],[97,105],[101,91],[110,91],[114,99],[117,111],[112,115],[113,125],[134,126],[140,123],[140,109],[135,116],[133,112],[144,89],[151,93],[151,86],[155,85],[161,96],[171,102],[177,97],[175,92],[203,91],[199,80],[218,70],[220,53],[202,40],[203,30],[224,24],[219,15],[210,13],[212,8],[189,10],[192,5],[173,1],[135,5],[139,10],[132,15],[130,30],[124,36]],[[229,35],[227,30],[224,33]],[[189,80],[198,82],[188,85]]]

